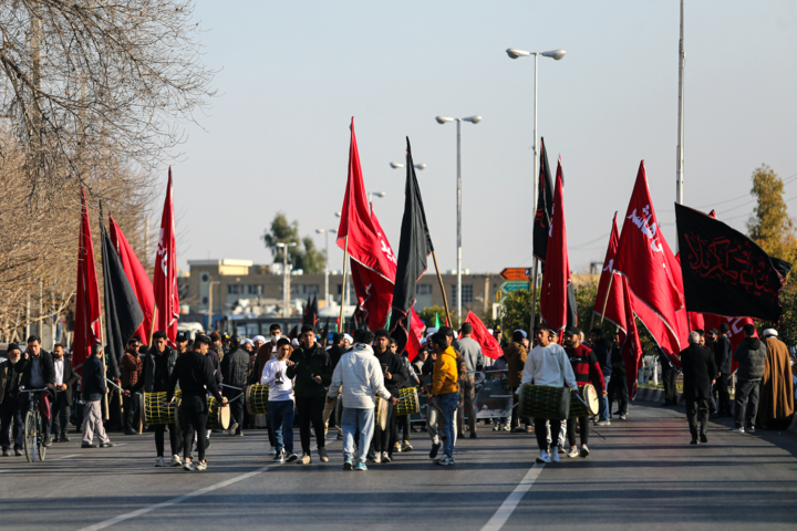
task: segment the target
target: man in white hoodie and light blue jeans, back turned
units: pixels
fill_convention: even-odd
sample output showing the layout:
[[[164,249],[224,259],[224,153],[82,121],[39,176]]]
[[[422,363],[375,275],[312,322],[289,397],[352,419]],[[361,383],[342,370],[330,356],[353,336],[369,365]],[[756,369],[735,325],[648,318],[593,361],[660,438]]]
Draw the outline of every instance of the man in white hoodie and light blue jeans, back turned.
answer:
[[[382,366],[370,345],[373,339],[372,332],[358,332],[354,347],[343,354],[332,374],[327,395],[327,402],[335,400],[338,389],[342,389],[343,470],[368,470],[365,456],[374,431],[374,397],[379,395],[383,400],[398,404],[398,399],[392,397],[384,386]],[[360,455],[354,465],[354,434],[358,430]]]

